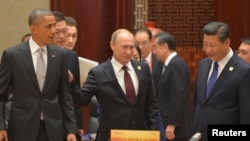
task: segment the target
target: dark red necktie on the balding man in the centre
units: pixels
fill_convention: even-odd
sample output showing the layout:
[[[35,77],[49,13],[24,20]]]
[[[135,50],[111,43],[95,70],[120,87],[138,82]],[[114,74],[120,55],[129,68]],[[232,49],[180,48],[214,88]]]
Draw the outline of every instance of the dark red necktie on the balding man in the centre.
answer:
[[[126,89],[126,96],[129,99],[131,104],[135,102],[135,88],[132,82],[132,79],[128,73],[128,67],[123,66],[122,69],[124,70],[124,82],[125,82],[125,89]]]

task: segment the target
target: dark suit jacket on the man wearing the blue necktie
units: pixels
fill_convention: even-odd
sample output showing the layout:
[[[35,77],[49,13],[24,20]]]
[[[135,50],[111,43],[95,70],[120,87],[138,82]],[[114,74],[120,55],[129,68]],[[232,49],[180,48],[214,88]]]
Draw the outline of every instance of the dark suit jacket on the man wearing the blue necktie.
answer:
[[[194,95],[193,127],[202,133],[202,141],[207,140],[209,124],[250,124],[249,64],[234,54],[205,98],[211,63],[209,58],[199,63]]]

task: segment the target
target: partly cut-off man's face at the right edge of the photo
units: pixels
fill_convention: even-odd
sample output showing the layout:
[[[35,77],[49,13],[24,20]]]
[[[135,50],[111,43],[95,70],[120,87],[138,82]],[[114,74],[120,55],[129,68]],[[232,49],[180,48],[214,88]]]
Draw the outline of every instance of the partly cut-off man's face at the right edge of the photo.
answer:
[[[250,45],[241,43],[238,49],[238,55],[248,63],[250,63]]]

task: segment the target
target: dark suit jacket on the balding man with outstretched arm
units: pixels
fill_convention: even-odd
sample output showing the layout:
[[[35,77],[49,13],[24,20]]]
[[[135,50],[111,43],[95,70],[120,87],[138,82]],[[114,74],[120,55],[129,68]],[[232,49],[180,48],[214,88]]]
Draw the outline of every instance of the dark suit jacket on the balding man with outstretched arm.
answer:
[[[75,98],[80,104],[86,105],[93,95],[96,96],[102,110],[97,141],[107,141],[111,129],[159,129],[157,101],[150,69],[145,63],[134,60],[131,63],[139,79],[134,105],[129,103],[120,87],[110,60],[90,70],[81,89],[82,94],[79,92]]]

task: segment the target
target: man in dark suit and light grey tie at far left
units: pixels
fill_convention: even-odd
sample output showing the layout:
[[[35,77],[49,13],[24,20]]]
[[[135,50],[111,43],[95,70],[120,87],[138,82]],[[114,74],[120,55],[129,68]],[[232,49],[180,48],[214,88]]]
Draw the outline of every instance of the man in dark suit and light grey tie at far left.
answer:
[[[0,65],[1,141],[64,141],[66,136],[67,141],[76,140],[77,128],[65,63],[67,53],[49,45],[55,23],[51,11],[35,9],[29,16],[30,40],[3,52]],[[40,70],[36,67],[39,49],[44,50],[42,58],[47,68],[41,85],[36,76]],[[7,139],[4,103],[10,87],[13,103]]]

